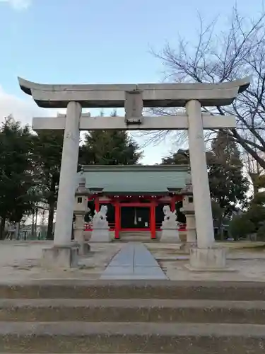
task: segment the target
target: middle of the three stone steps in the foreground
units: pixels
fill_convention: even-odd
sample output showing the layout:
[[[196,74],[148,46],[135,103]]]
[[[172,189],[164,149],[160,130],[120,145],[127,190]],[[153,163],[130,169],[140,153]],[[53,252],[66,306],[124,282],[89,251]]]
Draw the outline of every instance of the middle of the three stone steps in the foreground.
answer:
[[[0,299],[0,321],[265,324],[265,302],[176,299]]]

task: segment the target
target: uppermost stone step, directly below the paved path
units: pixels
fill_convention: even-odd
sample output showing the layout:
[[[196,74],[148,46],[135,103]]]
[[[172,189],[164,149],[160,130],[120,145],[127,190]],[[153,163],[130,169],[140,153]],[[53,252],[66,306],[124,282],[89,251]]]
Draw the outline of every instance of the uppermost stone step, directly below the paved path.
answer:
[[[32,280],[1,283],[1,299],[209,299],[265,301],[265,282]]]

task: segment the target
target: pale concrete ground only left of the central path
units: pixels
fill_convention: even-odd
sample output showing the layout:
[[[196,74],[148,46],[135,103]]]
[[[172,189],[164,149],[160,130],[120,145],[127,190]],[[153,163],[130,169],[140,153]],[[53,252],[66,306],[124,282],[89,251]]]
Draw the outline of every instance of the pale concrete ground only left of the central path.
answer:
[[[0,281],[99,279],[122,246],[124,244],[93,244],[89,256],[81,258],[78,269],[54,271],[40,267],[42,249],[52,247],[52,241],[1,241]]]

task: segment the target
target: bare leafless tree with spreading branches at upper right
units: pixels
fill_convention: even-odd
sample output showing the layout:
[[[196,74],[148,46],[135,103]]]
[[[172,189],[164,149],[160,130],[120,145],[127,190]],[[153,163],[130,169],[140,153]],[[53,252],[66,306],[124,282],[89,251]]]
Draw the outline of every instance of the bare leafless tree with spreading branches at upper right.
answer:
[[[234,8],[230,25],[221,33],[216,33],[216,21],[205,26],[199,18],[199,23],[196,45],[180,38],[177,49],[167,44],[162,52],[153,54],[163,61],[166,80],[170,82],[220,83],[252,75],[251,86],[232,105],[203,109],[235,115],[236,129],[225,134],[229,133],[265,169],[265,13],[252,21],[242,18]],[[155,113],[175,111],[160,109]],[[211,134],[207,137],[211,138]],[[152,134],[152,139],[161,137],[165,138],[165,132],[162,136],[158,132]]]

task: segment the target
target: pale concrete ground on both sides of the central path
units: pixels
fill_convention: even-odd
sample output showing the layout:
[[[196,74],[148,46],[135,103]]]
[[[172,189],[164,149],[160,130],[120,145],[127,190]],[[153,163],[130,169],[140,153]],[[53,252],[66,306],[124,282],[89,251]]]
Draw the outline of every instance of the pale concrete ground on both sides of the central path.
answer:
[[[235,244],[238,248],[239,244]],[[52,241],[1,241],[0,281],[44,279],[100,279],[112,258],[126,244],[91,244],[89,256],[81,258],[78,269],[44,270],[40,258],[44,247]],[[189,256],[172,244],[146,243],[170,280],[265,281],[265,250],[228,250],[228,265],[234,272],[194,273],[187,270]],[[226,246],[226,245],[224,245]]]

